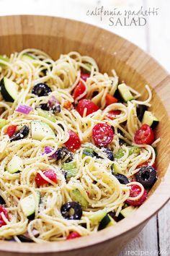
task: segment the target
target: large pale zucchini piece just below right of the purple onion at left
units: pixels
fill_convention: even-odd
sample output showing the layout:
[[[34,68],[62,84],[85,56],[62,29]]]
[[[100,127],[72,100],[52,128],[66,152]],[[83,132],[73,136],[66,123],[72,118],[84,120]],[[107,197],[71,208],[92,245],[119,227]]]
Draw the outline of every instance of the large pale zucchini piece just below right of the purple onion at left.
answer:
[[[55,139],[53,129],[44,121],[31,121],[31,135],[34,140],[42,140],[45,137]]]

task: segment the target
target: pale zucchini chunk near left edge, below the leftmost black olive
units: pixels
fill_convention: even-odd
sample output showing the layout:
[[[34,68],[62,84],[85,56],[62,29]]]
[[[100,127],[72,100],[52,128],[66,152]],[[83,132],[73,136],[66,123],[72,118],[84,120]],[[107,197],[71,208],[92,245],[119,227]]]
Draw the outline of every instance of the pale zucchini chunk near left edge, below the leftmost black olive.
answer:
[[[23,161],[19,156],[14,155],[12,160],[6,166],[6,171],[9,171],[10,174],[15,174],[18,171],[23,170]]]

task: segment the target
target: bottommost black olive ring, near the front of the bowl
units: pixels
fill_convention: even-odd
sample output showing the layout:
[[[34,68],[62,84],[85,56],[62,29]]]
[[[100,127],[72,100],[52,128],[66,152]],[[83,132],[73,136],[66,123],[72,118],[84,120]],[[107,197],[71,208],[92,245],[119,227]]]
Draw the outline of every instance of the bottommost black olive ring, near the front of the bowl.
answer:
[[[81,205],[78,202],[66,202],[61,206],[63,218],[68,220],[80,220],[82,216]]]

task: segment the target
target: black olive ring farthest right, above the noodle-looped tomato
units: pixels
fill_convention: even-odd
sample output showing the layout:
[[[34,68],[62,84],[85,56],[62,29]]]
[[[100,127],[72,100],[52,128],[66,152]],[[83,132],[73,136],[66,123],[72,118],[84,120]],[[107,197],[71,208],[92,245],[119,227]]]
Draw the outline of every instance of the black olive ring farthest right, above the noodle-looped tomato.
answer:
[[[152,187],[156,182],[156,169],[152,166],[143,166],[135,174],[136,182],[140,182],[145,189]]]

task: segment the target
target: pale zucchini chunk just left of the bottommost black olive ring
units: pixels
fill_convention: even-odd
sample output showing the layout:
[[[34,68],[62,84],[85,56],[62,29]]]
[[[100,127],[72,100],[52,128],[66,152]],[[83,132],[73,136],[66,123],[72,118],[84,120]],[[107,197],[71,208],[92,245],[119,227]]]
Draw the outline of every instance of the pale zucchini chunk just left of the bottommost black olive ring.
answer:
[[[40,203],[40,193],[37,193],[37,202],[38,204]],[[24,197],[22,200],[20,200],[20,205],[22,208],[22,211],[24,213],[24,216],[29,218],[29,216],[32,216],[32,214],[35,213],[35,208],[36,208],[36,200],[35,196],[33,194]]]

